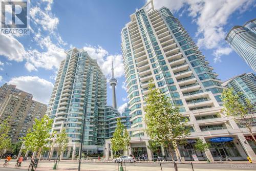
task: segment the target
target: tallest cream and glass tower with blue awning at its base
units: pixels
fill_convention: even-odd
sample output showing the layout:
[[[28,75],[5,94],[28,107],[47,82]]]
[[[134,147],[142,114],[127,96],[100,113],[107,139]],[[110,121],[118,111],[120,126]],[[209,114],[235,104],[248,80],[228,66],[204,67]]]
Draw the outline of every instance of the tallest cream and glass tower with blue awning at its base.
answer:
[[[223,87],[213,68],[168,8],[154,9],[153,2],[130,15],[131,22],[121,31],[121,49],[125,70],[126,91],[131,110],[131,143],[129,155],[136,158],[153,155],[170,157],[166,149],[153,154],[145,133],[143,106],[148,94],[148,82],[153,80],[180,113],[189,118],[190,135],[185,145],[179,145],[178,160],[194,160],[201,153],[195,142],[210,143],[205,155],[211,161],[256,160],[256,146],[248,141],[249,132],[231,118],[221,114]],[[255,115],[254,115],[255,116]],[[255,132],[256,134],[256,132]],[[106,140],[106,158],[113,158],[111,141]]]

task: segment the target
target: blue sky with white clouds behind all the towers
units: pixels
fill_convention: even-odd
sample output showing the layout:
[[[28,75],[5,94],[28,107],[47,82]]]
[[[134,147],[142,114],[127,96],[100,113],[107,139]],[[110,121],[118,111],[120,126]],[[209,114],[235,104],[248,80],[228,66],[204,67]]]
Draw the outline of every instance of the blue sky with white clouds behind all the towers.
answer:
[[[2,1],[2,0],[0,0]],[[117,105],[127,105],[121,29],[130,15],[146,0],[33,0],[30,2],[30,35],[0,33],[0,86],[15,84],[33,94],[33,99],[49,102],[56,73],[65,52],[83,48],[97,59],[107,79],[114,60]],[[210,66],[225,81],[253,72],[226,43],[225,36],[234,25],[255,17],[256,0],[154,0],[155,9],[165,6],[193,38]],[[107,103],[112,104],[107,86]]]

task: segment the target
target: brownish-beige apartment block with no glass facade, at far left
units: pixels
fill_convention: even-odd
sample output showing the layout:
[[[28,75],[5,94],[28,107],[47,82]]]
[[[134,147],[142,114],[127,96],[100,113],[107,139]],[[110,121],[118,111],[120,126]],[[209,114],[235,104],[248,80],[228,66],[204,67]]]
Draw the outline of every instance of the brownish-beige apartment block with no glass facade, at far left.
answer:
[[[46,113],[46,104],[32,98],[32,94],[11,84],[5,83],[0,88],[0,122],[10,117],[9,135],[14,143],[26,135],[35,119],[41,119]]]

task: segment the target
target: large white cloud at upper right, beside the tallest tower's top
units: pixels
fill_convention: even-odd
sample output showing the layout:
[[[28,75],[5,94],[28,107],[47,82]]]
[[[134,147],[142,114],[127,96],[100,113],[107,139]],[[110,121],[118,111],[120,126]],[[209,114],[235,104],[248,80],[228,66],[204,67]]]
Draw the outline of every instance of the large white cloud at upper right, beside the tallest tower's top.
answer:
[[[227,34],[227,31],[224,30],[227,20],[234,11],[239,10],[242,13],[249,9],[254,2],[254,0],[155,0],[154,5],[156,8],[166,6],[173,13],[177,13],[183,7],[187,9],[188,15],[198,25],[197,45],[206,49],[222,51]],[[225,54],[227,53],[219,54],[218,58],[220,59],[220,56]]]

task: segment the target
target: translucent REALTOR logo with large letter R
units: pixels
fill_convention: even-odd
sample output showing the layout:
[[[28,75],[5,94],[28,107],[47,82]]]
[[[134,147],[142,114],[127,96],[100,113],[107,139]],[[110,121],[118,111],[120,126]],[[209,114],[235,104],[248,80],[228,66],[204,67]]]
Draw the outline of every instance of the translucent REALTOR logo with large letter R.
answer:
[[[29,35],[29,2],[27,0],[1,1],[1,33]]]

